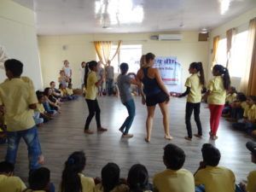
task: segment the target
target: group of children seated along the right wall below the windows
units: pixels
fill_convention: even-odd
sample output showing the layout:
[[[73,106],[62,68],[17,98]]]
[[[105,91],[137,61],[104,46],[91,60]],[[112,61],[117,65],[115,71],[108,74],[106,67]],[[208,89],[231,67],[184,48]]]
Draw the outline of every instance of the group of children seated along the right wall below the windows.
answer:
[[[236,88],[231,87],[226,97],[223,116],[234,122],[236,130],[246,131],[248,135],[256,136],[256,96],[245,96],[236,93]]]

